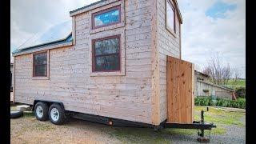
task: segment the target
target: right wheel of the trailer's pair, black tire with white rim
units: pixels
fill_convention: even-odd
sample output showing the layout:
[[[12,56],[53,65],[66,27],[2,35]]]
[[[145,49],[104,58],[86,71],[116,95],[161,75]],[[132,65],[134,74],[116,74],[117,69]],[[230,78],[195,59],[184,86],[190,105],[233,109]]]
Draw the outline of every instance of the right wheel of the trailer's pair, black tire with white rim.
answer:
[[[54,109],[55,108],[55,109]],[[55,119],[52,118],[52,114],[51,114],[51,110],[56,110],[57,113],[55,113],[56,117]],[[54,113],[54,111],[53,111]],[[66,122],[66,114],[65,114],[65,110],[62,108],[62,106],[60,106],[59,104],[57,103],[53,103],[50,108],[49,108],[49,119],[50,119],[50,122],[52,122],[53,124],[55,125],[62,125],[64,122]]]

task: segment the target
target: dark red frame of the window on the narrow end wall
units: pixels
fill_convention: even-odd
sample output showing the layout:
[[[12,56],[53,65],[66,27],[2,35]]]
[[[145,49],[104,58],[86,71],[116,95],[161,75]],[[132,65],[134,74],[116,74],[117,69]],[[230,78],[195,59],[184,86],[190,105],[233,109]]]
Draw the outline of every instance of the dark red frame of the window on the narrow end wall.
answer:
[[[170,5],[170,8],[173,10],[174,12],[174,30],[172,30],[172,28],[170,28],[170,26],[168,26],[168,21],[167,21],[167,5]],[[172,2],[170,2],[170,0],[166,0],[166,29],[175,36],[176,34],[176,9],[173,5]]]

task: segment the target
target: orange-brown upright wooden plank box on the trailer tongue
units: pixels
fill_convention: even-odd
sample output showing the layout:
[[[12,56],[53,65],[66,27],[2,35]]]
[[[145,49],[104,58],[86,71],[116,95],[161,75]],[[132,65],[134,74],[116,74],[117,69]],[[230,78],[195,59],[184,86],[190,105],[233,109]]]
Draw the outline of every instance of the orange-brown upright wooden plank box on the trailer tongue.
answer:
[[[167,122],[194,121],[194,64],[167,56]]]

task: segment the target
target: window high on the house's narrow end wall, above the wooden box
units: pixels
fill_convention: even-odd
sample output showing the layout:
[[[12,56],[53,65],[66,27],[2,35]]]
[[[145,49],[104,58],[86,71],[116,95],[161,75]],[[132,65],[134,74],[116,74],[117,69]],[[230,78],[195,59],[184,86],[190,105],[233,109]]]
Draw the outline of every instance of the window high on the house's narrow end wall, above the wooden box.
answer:
[[[170,31],[175,30],[175,9],[169,0],[166,0],[166,29]]]

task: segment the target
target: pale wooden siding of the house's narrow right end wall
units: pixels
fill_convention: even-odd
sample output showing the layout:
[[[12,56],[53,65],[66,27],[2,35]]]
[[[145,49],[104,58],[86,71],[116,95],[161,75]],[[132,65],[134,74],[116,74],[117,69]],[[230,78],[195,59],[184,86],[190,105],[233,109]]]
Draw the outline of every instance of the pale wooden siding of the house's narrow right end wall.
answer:
[[[172,0],[170,0],[172,2]],[[174,4],[174,3],[173,3]],[[176,34],[173,35],[166,29],[166,0],[158,0],[158,62],[160,70],[160,121],[167,119],[166,97],[166,55],[181,58],[180,22],[178,11],[175,12]]]

